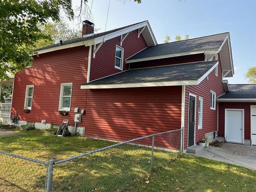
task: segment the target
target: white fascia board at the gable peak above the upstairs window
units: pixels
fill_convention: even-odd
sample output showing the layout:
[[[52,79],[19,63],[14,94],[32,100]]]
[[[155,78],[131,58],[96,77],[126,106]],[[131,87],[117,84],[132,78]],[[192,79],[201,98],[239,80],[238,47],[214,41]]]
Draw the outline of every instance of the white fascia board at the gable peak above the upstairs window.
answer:
[[[108,41],[109,39],[121,36],[123,34],[130,33],[133,30],[136,30],[136,29],[139,29],[139,28],[145,27],[145,26],[148,27],[148,21],[145,21],[145,22],[142,22],[142,23],[138,23],[137,25],[133,25],[133,26],[130,26],[130,27],[127,27],[127,28],[115,31],[115,32],[107,34],[107,35],[103,35],[103,36],[97,37],[97,38],[94,39],[94,43],[98,44],[98,43],[101,43],[101,42],[105,42],[105,41]],[[150,31],[150,29],[149,29],[149,31]]]

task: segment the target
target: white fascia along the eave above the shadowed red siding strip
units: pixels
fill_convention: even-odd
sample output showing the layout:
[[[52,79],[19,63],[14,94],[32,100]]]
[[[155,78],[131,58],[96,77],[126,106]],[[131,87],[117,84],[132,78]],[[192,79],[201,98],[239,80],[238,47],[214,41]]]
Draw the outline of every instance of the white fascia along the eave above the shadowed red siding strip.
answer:
[[[199,50],[199,51],[188,51],[188,52],[180,52],[180,53],[171,53],[171,54],[158,55],[158,56],[154,56],[154,57],[126,60],[126,63],[149,61],[149,60],[156,60],[156,59],[165,59],[165,58],[172,58],[172,57],[180,57],[180,56],[184,56],[184,55],[199,54],[199,53],[206,53],[206,52],[214,52],[215,53],[217,51],[218,51],[218,49],[209,49],[209,50]]]

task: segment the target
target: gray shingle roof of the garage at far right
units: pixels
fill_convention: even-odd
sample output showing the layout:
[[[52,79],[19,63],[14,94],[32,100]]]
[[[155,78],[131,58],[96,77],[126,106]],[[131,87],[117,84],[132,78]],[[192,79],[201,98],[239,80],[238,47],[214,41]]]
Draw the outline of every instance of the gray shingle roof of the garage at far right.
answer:
[[[230,84],[229,90],[218,99],[256,99],[255,84]]]

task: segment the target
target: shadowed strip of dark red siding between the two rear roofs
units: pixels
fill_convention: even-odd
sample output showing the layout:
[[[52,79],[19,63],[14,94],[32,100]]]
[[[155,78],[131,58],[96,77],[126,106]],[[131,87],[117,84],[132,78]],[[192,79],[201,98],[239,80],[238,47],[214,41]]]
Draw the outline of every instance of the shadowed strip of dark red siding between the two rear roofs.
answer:
[[[204,58],[203,53],[202,54],[193,54],[193,55],[184,55],[181,57],[173,57],[173,58],[156,59],[156,60],[130,63],[130,69],[204,61],[204,59],[205,58]]]

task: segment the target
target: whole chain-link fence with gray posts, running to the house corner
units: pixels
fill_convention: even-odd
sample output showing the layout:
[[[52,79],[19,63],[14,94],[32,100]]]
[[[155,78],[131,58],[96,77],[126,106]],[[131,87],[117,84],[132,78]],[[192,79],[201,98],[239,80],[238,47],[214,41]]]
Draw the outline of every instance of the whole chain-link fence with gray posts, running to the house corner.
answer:
[[[0,191],[145,190],[151,173],[177,160],[182,135],[157,133],[49,163],[0,152]]]

